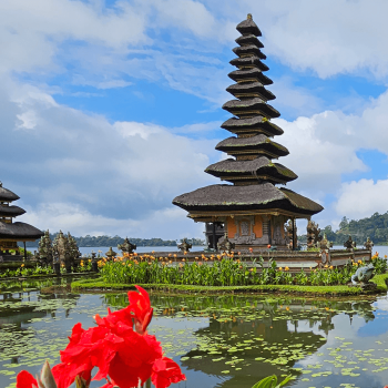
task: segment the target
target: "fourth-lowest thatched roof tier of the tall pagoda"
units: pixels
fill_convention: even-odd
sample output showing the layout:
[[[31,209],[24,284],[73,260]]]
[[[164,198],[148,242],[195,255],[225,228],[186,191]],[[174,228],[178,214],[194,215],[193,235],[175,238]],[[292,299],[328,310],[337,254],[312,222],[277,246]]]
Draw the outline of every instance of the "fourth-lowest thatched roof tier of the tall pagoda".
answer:
[[[233,133],[238,133],[239,131],[252,131],[259,133],[262,130],[274,136],[282,135],[284,133],[284,131],[279,126],[277,126],[268,120],[265,120],[265,118],[263,118],[262,115],[257,115],[249,119],[232,118],[222,123],[221,127]]]

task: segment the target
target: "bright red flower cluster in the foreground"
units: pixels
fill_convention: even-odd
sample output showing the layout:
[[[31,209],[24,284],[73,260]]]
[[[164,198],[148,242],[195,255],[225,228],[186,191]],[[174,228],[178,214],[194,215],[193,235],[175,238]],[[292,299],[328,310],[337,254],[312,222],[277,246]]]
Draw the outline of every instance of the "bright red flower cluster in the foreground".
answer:
[[[40,378],[22,370],[17,388],[68,388],[74,381],[78,388],[86,388],[94,367],[99,371],[93,380],[106,380],[101,388],[133,388],[150,378],[156,388],[166,388],[185,380],[180,366],[163,357],[156,337],[147,334],[153,308],[145,289],[136,288],[139,293],[127,293],[130,305],[125,308],[108,309],[104,318],[96,314],[95,327],[85,330],[80,323],[74,325],[61,363],[52,369],[44,364]]]

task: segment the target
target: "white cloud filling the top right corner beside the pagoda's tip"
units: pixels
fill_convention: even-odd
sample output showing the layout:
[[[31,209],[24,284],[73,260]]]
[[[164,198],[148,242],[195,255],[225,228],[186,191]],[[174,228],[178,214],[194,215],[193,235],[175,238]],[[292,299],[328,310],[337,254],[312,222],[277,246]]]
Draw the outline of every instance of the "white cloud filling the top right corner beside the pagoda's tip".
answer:
[[[320,78],[363,76],[366,70],[379,79],[388,75],[385,0],[243,0],[228,9],[231,19],[252,12],[266,53],[296,70],[310,69]]]

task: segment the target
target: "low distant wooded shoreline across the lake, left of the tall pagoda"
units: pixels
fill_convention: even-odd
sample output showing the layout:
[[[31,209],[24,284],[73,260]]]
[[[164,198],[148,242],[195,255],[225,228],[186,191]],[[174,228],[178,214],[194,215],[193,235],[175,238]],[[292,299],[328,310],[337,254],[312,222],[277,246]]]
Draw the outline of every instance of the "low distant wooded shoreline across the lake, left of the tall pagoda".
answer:
[[[71,232],[70,232],[71,233]],[[50,233],[50,238],[53,241],[58,233]],[[124,238],[119,236],[90,236],[84,237],[74,237],[76,245],[82,247],[99,247],[99,246],[113,246],[116,247],[118,244],[123,244]],[[162,238],[131,238],[129,237],[132,244],[137,246],[176,246],[176,241],[174,239],[162,239]],[[193,245],[205,245],[205,242],[200,238],[186,238],[190,244]],[[180,241],[182,242],[182,241]],[[27,247],[38,247],[39,239],[37,242],[27,242]],[[20,243],[20,246],[23,244]]]

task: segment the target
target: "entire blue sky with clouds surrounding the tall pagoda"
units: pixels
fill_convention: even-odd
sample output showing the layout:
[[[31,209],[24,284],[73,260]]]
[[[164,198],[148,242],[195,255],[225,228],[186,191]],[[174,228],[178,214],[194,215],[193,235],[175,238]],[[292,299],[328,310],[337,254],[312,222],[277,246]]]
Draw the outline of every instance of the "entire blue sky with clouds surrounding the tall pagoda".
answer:
[[[20,221],[73,235],[201,237],[172,200],[218,183],[235,27],[263,32],[287,187],[337,228],[388,211],[388,3],[2,0],[0,180]],[[299,232],[306,223],[299,224]]]

